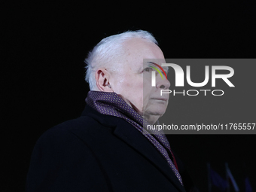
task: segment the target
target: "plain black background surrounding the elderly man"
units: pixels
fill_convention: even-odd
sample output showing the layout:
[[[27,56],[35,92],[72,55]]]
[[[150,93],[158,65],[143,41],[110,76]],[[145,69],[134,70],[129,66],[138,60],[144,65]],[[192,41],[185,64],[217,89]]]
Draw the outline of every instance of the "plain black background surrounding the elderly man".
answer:
[[[1,191],[24,191],[38,137],[81,114],[89,90],[84,58],[102,38],[144,29],[157,38],[166,58],[255,57],[253,1],[2,5]],[[241,191],[244,174],[256,188],[254,135],[168,137],[200,191],[207,191],[207,162],[223,177],[229,163]]]

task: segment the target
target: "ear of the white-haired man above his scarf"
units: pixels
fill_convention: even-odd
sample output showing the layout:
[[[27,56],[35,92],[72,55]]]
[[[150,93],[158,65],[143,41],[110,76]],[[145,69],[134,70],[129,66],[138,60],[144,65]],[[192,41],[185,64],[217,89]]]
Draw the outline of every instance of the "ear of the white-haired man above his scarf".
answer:
[[[110,73],[106,69],[98,69],[95,73],[96,85],[100,91],[113,92],[109,84]]]

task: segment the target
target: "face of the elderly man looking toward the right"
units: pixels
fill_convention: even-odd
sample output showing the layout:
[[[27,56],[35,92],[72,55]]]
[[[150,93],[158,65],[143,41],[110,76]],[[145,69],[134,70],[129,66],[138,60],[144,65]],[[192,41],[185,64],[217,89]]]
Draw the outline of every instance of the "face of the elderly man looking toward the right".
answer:
[[[164,61],[163,53],[156,44],[142,38],[125,41],[123,48],[126,56],[123,56],[123,61],[111,72],[109,83],[112,90],[126,103],[143,115],[149,123],[155,123],[166,111],[169,99],[169,94],[160,96],[160,90],[169,89],[170,84],[156,72],[156,87],[152,87],[152,68],[143,63],[143,59]]]

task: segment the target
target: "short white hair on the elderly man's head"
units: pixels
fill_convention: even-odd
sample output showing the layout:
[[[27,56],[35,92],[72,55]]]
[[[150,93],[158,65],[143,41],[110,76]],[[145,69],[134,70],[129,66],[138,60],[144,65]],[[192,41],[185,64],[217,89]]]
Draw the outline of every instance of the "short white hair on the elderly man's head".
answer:
[[[119,56],[123,56],[124,52],[122,49],[123,41],[130,38],[144,38],[146,41],[157,44],[157,40],[151,35],[150,32],[137,30],[127,31],[117,35],[111,35],[107,38],[103,38],[99,44],[96,44],[88,53],[86,62],[87,69],[85,81],[90,85],[90,90],[97,90],[95,72],[101,67],[108,66],[108,69],[114,68],[114,62],[117,62]]]

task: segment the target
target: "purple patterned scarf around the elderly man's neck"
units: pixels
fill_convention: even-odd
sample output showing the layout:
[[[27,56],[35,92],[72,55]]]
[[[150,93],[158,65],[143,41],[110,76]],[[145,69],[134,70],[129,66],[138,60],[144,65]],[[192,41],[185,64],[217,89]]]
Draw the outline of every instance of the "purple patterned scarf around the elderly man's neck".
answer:
[[[146,120],[138,114],[130,105],[128,105],[124,100],[117,95],[117,93],[107,93],[101,91],[89,91],[87,99],[85,99],[87,105],[94,108],[100,114],[107,114],[115,117],[120,117],[126,120],[128,123],[132,124],[136,130],[139,130],[158,151],[163,155],[163,157],[169,163],[172,171],[178,178],[178,181],[182,183],[181,175],[178,172],[178,166],[175,162],[175,158],[172,154],[169,142],[165,135],[160,133],[154,133],[154,136],[147,133],[143,126],[148,125]],[[169,153],[172,155],[174,163],[169,157]],[[176,168],[177,167],[177,168]]]

